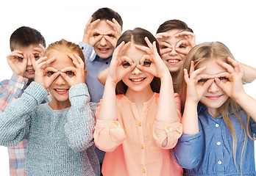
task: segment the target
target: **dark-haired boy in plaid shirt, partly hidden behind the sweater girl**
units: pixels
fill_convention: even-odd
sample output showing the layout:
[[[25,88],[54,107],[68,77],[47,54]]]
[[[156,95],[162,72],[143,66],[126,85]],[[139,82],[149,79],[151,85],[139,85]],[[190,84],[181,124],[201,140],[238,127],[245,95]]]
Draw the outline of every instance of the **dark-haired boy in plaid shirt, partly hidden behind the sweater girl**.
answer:
[[[11,54],[7,56],[8,65],[13,70],[10,80],[0,82],[0,112],[17,99],[35,76],[30,55],[38,59],[43,55],[46,41],[36,29],[22,26],[10,36]],[[47,99],[45,101],[48,101]],[[26,140],[17,146],[8,147],[10,175],[25,175]]]

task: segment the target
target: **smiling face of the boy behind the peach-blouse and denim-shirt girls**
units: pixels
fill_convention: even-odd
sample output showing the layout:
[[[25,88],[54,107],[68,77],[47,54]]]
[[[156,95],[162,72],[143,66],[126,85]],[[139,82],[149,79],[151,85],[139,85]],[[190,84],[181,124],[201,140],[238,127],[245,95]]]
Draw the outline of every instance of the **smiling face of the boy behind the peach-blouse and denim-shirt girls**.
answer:
[[[185,54],[178,53],[175,48],[185,48],[186,45],[177,45],[180,40],[184,40],[184,37],[174,37],[175,34],[182,32],[179,29],[171,29],[168,30],[167,33],[171,34],[171,37],[163,37],[163,39],[160,39],[158,41],[167,43],[167,45],[171,46],[171,51],[167,53],[163,53],[163,49],[168,48],[166,45],[160,45],[160,54],[163,59],[163,62],[165,62],[166,66],[168,67],[168,70],[171,73],[176,73],[180,70],[180,68],[183,65],[183,62],[185,60]]]

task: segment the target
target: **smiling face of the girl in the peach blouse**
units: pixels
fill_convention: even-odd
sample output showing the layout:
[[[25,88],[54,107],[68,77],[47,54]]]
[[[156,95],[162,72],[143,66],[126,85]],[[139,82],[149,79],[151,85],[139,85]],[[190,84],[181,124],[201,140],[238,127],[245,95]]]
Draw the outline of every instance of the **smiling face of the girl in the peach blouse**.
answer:
[[[127,50],[124,51],[122,56],[129,57],[130,59],[132,59],[133,63],[149,67],[149,61],[145,60],[143,63],[141,63],[140,61],[144,54],[146,54],[146,52],[138,50],[132,43],[131,45],[129,45],[129,48],[127,48]],[[123,62],[122,65],[124,67],[129,66],[127,62]],[[138,67],[135,67],[135,69],[132,70],[132,72],[128,73],[127,76],[124,76],[122,80],[124,81],[124,84],[126,84],[128,87],[127,92],[142,92],[144,90],[152,92],[150,83],[152,82],[153,78],[154,76],[152,76],[152,74],[143,72],[140,69],[138,69]]]

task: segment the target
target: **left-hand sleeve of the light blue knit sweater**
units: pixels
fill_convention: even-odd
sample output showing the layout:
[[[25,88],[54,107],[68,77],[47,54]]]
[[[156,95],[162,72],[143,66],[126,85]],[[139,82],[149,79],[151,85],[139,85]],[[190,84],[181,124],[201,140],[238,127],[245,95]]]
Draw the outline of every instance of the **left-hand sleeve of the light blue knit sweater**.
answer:
[[[32,111],[46,98],[47,92],[40,84],[32,82],[21,98],[10,103],[0,114],[0,144],[14,146],[26,139]]]

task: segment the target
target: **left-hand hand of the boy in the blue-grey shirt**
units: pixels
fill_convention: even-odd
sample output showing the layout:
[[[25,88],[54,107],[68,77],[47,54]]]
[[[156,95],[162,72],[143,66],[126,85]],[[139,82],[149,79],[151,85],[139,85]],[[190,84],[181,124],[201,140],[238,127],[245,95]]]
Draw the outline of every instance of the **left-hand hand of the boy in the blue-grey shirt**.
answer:
[[[89,45],[94,47],[94,45],[97,43],[97,41],[102,39],[102,36],[97,35],[96,34],[97,31],[93,31],[93,26],[95,26],[97,23],[99,23],[100,19],[91,22],[92,20],[93,20],[93,17],[90,17],[88,22],[85,25],[84,36],[82,38],[82,42],[88,43]]]

